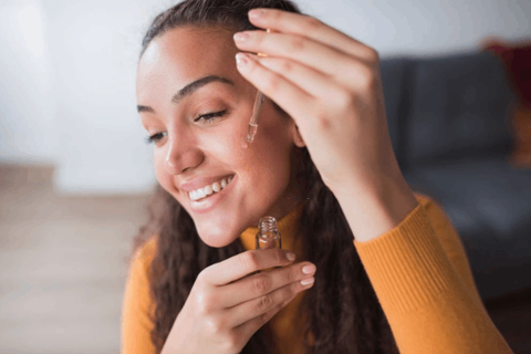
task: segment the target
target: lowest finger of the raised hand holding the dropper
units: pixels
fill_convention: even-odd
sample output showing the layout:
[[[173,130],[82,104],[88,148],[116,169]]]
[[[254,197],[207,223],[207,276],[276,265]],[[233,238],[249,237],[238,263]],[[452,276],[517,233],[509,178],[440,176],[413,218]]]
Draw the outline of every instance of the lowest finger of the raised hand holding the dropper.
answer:
[[[243,63],[242,60],[239,61],[237,66],[240,74],[266,96],[273,100],[285,113],[292,117],[310,116],[312,114],[311,107],[315,98],[311,94],[282,75],[263,67],[251,59],[251,55],[237,54],[237,59],[241,56],[247,58],[247,63]],[[306,122],[295,123],[300,129],[306,129]]]

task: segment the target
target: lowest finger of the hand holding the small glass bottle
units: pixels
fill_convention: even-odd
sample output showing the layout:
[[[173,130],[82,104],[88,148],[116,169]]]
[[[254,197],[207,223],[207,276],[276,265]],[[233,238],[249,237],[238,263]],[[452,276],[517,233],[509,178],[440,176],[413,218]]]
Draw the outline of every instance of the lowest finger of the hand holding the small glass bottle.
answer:
[[[310,278],[313,280],[313,277]],[[284,301],[296,296],[301,291],[304,291],[313,285],[313,282],[303,285],[301,281],[295,281],[277,289],[269,294],[257,299],[249,300],[231,309],[227,309],[227,317],[229,320],[229,327],[237,327],[254,317],[268,314],[269,311]]]

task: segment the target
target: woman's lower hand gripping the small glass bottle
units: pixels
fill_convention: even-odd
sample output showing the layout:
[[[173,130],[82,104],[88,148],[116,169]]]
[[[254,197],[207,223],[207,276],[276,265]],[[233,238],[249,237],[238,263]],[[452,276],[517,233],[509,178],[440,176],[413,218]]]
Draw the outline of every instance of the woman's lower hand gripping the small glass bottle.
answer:
[[[313,285],[310,262],[291,264],[282,249],[248,250],[204,269],[177,315],[162,354],[237,354],[296,294]],[[283,267],[253,274],[259,270]],[[312,280],[302,285],[301,280]]]

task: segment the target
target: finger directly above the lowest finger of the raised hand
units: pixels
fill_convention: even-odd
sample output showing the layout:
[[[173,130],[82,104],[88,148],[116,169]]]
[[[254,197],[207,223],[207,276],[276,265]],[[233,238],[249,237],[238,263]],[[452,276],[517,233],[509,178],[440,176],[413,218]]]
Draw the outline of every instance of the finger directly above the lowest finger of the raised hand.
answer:
[[[329,75],[312,67],[284,58],[253,56],[253,59],[257,60],[260,65],[284,76],[292,83],[296,84],[299,88],[306,91],[315,97],[326,100],[342,93],[343,88],[334,84],[334,81],[332,81]]]

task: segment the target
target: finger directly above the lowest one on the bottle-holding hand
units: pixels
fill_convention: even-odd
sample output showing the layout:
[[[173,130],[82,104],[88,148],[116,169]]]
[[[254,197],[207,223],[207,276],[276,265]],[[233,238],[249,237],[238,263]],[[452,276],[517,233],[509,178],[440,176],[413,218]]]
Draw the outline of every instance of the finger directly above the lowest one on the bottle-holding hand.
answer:
[[[250,300],[262,298],[288,284],[299,283],[315,272],[315,270],[313,270],[312,273],[304,273],[303,268],[306,266],[313,264],[311,262],[291,264],[283,269],[262,272],[242,279],[233,284],[219,288],[219,299],[223,299],[221,306],[232,308]]]

